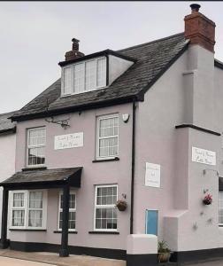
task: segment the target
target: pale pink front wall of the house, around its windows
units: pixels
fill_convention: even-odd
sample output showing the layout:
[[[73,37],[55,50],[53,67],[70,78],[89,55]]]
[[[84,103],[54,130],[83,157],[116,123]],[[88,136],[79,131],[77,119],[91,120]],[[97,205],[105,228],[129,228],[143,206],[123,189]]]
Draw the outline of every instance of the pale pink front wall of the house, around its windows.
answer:
[[[96,118],[100,115],[119,113],[119,160],[93,162],[96,160]],[[130,119],[125,123],[122,114],[129,113]],[[27,129],[46,127],[46,167],[72,168],[83,167],[81,188],[76,189],[76,231],[69,234],[69,244],[73,246],[89,246],[126,250],[127,234],[129,234],[130,215],[130,180],[132,149],[132,105],[112,106],[81,113],[69,113],[55,117],[56,120],[69,118],[70,127],[62,129],[60,125],[48,123],[44,119],[21,121],[18,123],[16,171],[26,168]],[[70,149],[54,149],[54,137],[69,133],[83,132],[82,147]],[[94,227],[94,205],[96,184],[118,184],[119,199],[127,195],[127,210],[118,211],[119,234],[89,234]],[[58,190],[48,191],[47,231],[11,231],[11,241],[44,242],[59,244],[61,234],[54,233],[58,229]]]

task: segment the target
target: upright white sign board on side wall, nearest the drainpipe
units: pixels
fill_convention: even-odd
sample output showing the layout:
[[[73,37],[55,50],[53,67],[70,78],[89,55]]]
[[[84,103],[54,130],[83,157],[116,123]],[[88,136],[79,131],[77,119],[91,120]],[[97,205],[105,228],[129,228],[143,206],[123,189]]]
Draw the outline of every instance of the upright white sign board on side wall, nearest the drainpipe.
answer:
[[[145,185],[160,187],[160,165],[146,162]]]

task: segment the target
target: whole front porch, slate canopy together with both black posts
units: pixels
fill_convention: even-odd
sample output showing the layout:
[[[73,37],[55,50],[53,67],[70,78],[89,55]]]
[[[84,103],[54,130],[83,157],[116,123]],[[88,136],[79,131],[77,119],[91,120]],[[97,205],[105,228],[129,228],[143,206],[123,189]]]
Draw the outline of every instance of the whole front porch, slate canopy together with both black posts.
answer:
[[[9,191],[32,190],[32,189],[63,189],[63,213],[62,213],[62,235],[60,256],[68,256],[68,220],[69,220],[69,198],[70,187],[81,187],[81,167],[77,168],[35,168],[23,169],[10,178],[0,183],[4,187],[2,208],[2,231],[0,248],[7,248],[7,221]]]

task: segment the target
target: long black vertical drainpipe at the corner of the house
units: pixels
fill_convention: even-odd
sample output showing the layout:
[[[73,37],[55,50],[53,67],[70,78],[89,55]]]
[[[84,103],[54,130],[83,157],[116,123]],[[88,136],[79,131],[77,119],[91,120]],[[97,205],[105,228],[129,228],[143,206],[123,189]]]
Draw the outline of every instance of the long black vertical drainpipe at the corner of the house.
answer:
[[[133,99],[133,132],[132,132],[132,178],[131,178],[131,210],[130,234],[133,234],[134,223],[134,186],[135,186],[135,98]]]

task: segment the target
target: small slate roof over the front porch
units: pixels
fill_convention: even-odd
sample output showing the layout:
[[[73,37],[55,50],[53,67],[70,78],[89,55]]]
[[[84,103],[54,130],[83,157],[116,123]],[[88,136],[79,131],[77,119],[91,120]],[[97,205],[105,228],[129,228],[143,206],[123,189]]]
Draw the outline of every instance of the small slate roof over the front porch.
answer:
[[[55,168],[55,169],[32,169],[15,173],[10,178],[0,183],[2,186],[24,185],[24,184],[52,184],[65,183],[71,179],[81,184],[81,167],[78,168]],[[72,183],[72,182],[71,182]],[[74,184],[74,183],[73,183]]]

